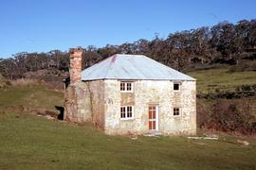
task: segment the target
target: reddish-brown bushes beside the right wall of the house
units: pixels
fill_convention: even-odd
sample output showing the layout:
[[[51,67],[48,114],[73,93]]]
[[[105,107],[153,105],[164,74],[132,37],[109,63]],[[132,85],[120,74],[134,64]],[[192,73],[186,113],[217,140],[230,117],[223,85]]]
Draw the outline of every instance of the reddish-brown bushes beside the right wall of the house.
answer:
[[[200,112],[204,109],[198,105],[197,119],[204,121],[198,122],[198,126],[229,133],[255,135],[256,116],[253,107],[255,104],[249,100],[217,100],[210,106],[209,114],[206,114]]]

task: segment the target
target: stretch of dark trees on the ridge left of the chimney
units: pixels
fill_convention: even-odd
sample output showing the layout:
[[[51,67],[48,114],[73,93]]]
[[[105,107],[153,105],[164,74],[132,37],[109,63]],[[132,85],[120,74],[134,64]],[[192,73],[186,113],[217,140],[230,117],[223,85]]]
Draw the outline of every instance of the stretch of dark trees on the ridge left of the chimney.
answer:
[[[24,77],[27,72],[43,69],[68,71],[69,56],[53,50],[47,53],[17,53],[12,58],[0,59],[0,73],[9,78]]]

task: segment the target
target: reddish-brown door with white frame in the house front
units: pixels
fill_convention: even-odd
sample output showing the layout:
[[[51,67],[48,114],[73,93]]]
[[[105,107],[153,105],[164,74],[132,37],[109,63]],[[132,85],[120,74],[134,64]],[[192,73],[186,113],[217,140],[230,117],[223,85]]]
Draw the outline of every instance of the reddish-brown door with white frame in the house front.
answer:
[[[158,130],[158,106],[149,106],[149,130]]]

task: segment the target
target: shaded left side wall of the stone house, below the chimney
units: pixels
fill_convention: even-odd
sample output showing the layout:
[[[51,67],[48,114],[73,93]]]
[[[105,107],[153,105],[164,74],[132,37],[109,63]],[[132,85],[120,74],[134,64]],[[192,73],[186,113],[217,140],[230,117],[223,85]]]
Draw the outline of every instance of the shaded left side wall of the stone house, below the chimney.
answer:
[[[64,120],[104,128],[104,81],[75,82],[67,87],[64,98]]]

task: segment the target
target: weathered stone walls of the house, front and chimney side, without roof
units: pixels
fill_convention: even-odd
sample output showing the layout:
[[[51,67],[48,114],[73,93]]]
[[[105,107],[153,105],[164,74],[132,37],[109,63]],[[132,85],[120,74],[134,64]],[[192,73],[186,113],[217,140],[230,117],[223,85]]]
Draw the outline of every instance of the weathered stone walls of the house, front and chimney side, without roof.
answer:
[[[174,81],[137,80],[134,93],[120,93],[119,80],[77,82],[65,93],[64,119],[93,122],[107,134],[150,132],[148,108],[159,107],[158,132],[163,135],[196,133],[195,81],[182,81],[174,92]],[[134,106],[133,120],[120,120],[120,106]],[[174,116],[174,107],[181,115]]]

